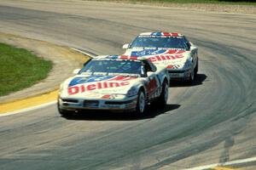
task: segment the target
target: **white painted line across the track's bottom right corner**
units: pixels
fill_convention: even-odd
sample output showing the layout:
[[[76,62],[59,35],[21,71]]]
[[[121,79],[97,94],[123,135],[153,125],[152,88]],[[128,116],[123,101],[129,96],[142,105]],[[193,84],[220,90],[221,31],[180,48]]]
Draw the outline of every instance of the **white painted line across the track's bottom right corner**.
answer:
[[[235,166],[238,164],[248,163],[248,162],[252,162],[252,161],[256,161],[256,157],[251,157],[251,158],[241,159],[241,160],[236,160],[236,161],[227,161],[224,163],[215,163],[215,164],[201,166],[201,167],[192,167],[192,168],[188,168],[185,170],[203,170],[203,169],[209,169],[212,167]]]

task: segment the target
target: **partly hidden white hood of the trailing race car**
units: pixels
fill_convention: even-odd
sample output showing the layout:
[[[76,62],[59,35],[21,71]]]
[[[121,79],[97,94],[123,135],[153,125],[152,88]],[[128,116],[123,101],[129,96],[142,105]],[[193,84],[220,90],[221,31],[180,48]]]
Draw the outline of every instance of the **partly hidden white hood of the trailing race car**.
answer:
[[[190,51],[173,48],[128,48],[125,55],[147,58],[157,67],[180,69],[190,58]]]

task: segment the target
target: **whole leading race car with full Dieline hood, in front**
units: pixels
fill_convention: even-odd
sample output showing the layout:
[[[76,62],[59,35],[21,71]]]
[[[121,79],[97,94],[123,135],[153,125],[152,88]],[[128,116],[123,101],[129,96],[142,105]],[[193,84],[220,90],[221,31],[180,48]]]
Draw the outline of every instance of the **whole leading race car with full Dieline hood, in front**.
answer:
[[[79,73],[61,83],[58,111],[62,116],[80,110],[135,111],[142,114],[157,99],[168,99],[169,77],[165,67],[148,59],[105,55],[90,59]]]

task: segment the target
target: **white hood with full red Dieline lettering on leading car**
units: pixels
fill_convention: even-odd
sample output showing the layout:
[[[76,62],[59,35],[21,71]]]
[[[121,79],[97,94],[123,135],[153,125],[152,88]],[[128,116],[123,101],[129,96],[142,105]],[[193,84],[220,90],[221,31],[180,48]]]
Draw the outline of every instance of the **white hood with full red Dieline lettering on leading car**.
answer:
[[[128,91],[139,84],[140,77],[84,76],[68,78],[61,84],[61,98],[123,99]]]

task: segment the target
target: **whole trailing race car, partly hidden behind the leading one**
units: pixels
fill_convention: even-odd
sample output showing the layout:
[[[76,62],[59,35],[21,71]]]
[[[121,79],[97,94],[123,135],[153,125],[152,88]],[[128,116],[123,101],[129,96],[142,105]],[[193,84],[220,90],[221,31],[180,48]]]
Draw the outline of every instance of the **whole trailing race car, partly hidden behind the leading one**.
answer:
[[[198,48],[179,33],[144,32],[123,48],[125,55],[144,57],[156,66],[166,66],[171,80],[193,82],[198,71]]]

